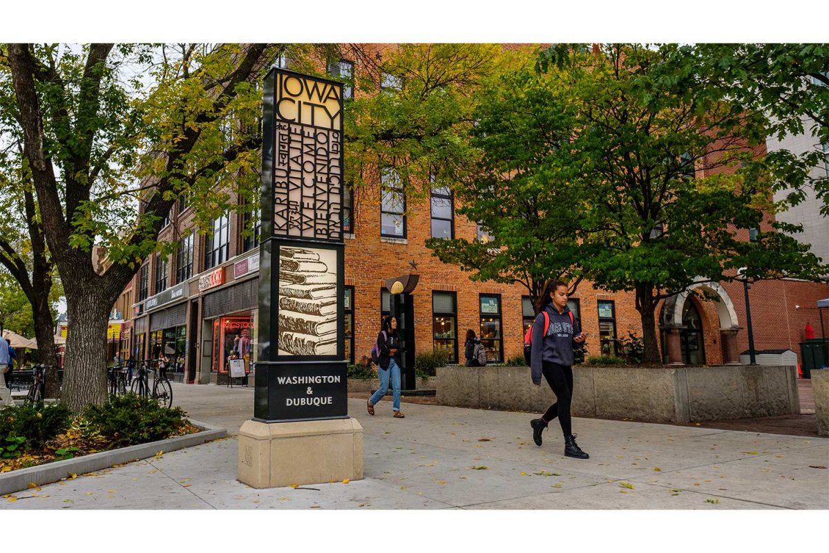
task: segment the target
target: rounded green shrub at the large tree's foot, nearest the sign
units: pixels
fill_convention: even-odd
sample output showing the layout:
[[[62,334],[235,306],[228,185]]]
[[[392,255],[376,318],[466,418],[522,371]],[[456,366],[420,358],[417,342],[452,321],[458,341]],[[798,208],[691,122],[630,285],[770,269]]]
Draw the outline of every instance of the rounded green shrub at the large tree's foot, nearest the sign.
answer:
[[[132,392],[114,395],[104,405],[87,405],[84,410],[88,430],[111,440],[113,448],[169,438],[187,424],[186,416],[181,407],[168,409]]]

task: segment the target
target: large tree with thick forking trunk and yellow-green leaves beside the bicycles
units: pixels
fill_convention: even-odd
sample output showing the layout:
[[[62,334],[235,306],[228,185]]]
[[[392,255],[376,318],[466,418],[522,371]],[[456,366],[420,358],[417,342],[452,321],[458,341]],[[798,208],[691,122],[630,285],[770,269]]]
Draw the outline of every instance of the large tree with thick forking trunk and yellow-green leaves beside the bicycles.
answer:
[[[51,260],[66,282],[64,400],[106,399],[106,323],[176,201],[196,222],[255,197],[261,80],[279,53],[323,61],[336,48],[280,44],[12,44],[0,48],[2,105],[31,174]],[[317,63],[317,66],[320,64]],[[225,188],[226,187],[226,188]],[[221,191],[221,192],[220,192]],[[229,205],[230,204],[230,205]],[[93,245],[106,252],[104,269]]]

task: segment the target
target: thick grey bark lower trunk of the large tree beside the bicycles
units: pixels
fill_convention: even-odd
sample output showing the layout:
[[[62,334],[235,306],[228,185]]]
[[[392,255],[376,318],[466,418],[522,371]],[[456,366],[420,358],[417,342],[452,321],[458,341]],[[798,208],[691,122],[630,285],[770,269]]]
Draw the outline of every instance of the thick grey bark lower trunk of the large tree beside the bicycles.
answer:
[[[90,403],[107,399],[106,327],[112,303],[89,283],[77,283],[75,293],[66,294],[69,332],[66,333],[63,397],[79,412]]]

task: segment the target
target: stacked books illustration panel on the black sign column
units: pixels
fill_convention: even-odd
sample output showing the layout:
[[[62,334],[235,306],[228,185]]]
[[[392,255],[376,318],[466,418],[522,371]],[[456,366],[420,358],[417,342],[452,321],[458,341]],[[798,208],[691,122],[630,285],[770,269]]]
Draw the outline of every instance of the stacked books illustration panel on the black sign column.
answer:
[[[322,255],[333,251],[279,249],[279,353],[337,354],[337,274]]]

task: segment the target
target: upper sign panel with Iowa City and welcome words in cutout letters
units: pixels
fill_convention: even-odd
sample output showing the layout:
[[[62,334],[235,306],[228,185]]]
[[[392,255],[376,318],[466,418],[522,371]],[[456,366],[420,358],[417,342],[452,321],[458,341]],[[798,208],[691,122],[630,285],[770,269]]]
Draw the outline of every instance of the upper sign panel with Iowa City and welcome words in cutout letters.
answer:
[[[342,240],[342,85],[275,76],[274,235]]]

